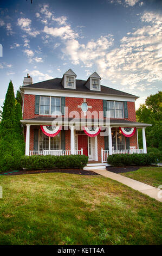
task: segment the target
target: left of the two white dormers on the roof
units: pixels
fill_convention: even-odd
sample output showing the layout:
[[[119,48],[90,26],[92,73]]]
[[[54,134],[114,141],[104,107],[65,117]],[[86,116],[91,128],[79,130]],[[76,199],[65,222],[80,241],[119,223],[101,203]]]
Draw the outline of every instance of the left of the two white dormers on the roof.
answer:
[[[61,83],[64,88],[76,89],[76,74],[72,69],[64,73]]]

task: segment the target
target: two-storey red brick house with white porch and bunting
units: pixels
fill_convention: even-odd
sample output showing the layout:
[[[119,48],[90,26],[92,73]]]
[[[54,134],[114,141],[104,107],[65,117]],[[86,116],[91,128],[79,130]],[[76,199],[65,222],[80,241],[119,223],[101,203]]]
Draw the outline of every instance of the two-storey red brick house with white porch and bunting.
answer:
[[[85,154],[103,168],[108,155],[147,153],[145,127],[150,124],[136,121],[138,97],[102,86],[100,80],[96,72],[87,81],[77,80],[71,69],[62,78],[34,84],[24,77],[25,154]]]

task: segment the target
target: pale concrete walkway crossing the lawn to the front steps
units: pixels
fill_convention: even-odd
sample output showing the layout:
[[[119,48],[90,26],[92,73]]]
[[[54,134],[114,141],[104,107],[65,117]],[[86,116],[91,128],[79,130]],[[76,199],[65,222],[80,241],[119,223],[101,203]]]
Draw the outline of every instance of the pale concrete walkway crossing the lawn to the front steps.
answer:
[[[143,194],[147,194],[147,196],[152,197],[152,198],[162,202],[162,198],[158,198],[158,192],[160,191],[159,188],[152,187],[152,186],[142,183],[140,181],[133,180],[133,179],[127,178],[125,176],[122,176],[120,174],[109,172],[108,170],[93,170],[92,169],[92,171],[95,173],[98,173],[102,176],[105,176],[106,178],[110,178],[112,180],[119,181],[122,184],[127,185],[128,187],[132,187],[133,190],[138,190],[139,192],[141,192]],[[161,191],[161,196],[162,196],[162,191]],[[160,195],[159,195],[159,197],[160,197]]]

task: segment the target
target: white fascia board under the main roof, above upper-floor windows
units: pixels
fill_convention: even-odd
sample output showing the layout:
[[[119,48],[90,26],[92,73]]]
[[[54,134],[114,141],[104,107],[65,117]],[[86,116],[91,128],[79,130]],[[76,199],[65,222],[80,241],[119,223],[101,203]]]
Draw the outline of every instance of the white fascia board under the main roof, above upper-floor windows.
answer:
[[[94,94],[87,92],[69,92],[62,90],[48,90],[48,89],[35,89],[35,88],[24,88],[24,94],[41,95],[41,96],[62,96],[62,97],[80,97],[86,99],[98,99],[98,100],[118,100],[118,101],[131,101],[135,102],[135,97],[130,96],[118,96],[118,95],[105,95],[105,94]]]

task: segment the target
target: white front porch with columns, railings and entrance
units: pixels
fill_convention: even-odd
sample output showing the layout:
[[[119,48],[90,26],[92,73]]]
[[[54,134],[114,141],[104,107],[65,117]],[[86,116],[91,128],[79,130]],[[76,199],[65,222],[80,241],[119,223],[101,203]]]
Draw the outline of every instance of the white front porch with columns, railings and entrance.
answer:
[[[61,149],[61,145],[57,147],[57,149],[50,149],[50,140],[49,140],[49,149],[41,149],[41,150],[30,150],[30,124],[27,124],[27,132],[26,132],[26,144],[25,144],[25,155],[32,156],[32,155],[83,155],[85,154],[85,149],[83,149],[82,141],[79,143],[79,137],[85,136],[87,139],[87,155],[89,157],[89,161],[101,161],[102,163],[107,162],[107,157],[112,154],[146,154],[146,136],[145,136],[145,127],[142,128],[142,138],[143,138],[143,149],[136,149],[135,147],[130,147],[129,149],[115,149],[113,147],[112,135],[113,135],[113,128],[108,127],[108,150],[103,149],[103,146],[100,146],[98,150],[98,136],[89,137],[83,131],[75,130],[75,126],[70,126],[70,136],[69,142],[70,147],[67,148],[68,150]],[[137,134],[138,136],[138,134]],[[117,137],[116,137],[117,142]],[[116,144],[118,146],[118,143]],[[103,147],[103,148],[101,148]],[[40,147],[38,147],[40,149]]]

